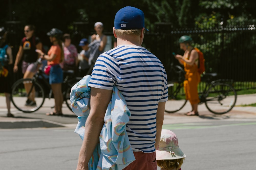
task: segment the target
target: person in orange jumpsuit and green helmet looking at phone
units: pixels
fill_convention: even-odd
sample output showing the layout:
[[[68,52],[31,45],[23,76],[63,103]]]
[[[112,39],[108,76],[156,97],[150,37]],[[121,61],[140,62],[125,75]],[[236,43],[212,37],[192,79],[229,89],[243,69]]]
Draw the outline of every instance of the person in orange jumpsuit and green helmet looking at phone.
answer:
[[[197,106],[200,102],[198,97],[197,86],[200,82],[200,74],[198,73],[198,53],[191,46],[192,38],[188,35],[183,35],[179,38],[180,48],[185,51],[184,55],[175,55],[175,58],[180,64],[184,65],[184,70],[186,71],[184,90],[186,93],[186,99],[189,100],[192,111],[188,112],[186,115],[198,116]]]

